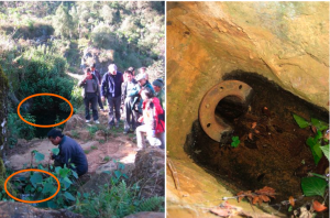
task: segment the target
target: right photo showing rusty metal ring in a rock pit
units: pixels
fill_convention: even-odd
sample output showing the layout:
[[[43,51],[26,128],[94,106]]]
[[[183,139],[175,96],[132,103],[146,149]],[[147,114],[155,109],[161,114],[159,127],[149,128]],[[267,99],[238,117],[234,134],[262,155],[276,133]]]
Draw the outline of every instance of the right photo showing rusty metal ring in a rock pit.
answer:
[[[329,217],[329,2],[166,9],[166,217]]]

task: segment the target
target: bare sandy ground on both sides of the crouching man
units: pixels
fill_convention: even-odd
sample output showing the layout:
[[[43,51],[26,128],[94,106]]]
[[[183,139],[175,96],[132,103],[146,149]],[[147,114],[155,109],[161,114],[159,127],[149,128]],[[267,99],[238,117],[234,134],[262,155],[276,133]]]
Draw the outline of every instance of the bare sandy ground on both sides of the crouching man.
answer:
[[[77,116],[76,116],[77,117]],[[100,124],[84,123],[81,127],[75,127],[65,132],[74,138],[84,149],[88,160],[88,173],[96,173],[97,168],[111,160],[120,161],[124,164],[134,164],[135,161],[135,135],[133,133],[123,134],[123,122],[120,122],[119,129],[112,129],[108,132],[109,137],[99,137],[96,133],[102,132],[108,123],[108,112],[99,112]],[[82,115],[78,118],[84,120]],[[85,121],[85,120],[84,120]],[[33,139],[32,141],[19,140],[18,145],[7,152],[6,164],[14,171],[23,168],[24,164],[30,166],[31,152],[38,151],[45,155],[40,163],[48,164],[51,150],[55,148],[48,139]],[[52,163],[52,161],[51,161]],[[33,161],[33,166],[38,163]]]

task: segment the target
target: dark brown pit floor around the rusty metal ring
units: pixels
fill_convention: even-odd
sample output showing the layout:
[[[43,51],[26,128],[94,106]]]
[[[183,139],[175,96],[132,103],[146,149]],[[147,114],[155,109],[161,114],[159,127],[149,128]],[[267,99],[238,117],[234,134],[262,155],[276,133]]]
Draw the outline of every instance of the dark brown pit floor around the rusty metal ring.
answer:
[[[257,74],[232,72],[223,77],[223,80],[231,79],[252,87],[254,95],[251,103],[246,106],[237,98],[223,98],[215,113],[226,120],[232,131],[222,134],[220,142],[217,142],[196,120],[187,135],[185,151],[235,193],[254,192],[264,186],[274,188],[276,198],[270,205],[280,212],[288,212],[288,206],[280,203],[290,196],[296,199],[296,207],[311,199],[322,203],[323,198],[319,196],[302,196],[301,178],[309,173],[324,175],[329,162],[322,155],[319,163],[315,163],[306,141],[316,134],[310,127],[299,128],[293,115],[308,121],[311,118],[320,120],[328,130],[328,111]],[[232,145],[234,137],[239,139],[237,148]],[[324,145],[324,142],[321,143]]]

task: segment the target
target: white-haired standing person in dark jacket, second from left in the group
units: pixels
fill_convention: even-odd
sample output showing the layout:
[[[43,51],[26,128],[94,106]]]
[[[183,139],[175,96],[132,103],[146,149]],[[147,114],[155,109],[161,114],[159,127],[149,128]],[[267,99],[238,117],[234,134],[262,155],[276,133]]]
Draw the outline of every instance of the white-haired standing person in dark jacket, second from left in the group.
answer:
[[[120,105],[121,105],[121,85],[123,83],[122,73],[117,70],[116,64],[110,64],[108,72],[103,75],[101,83],[102,100],[108,99],[109,105],[109,128],[119,128],[120,122]]]

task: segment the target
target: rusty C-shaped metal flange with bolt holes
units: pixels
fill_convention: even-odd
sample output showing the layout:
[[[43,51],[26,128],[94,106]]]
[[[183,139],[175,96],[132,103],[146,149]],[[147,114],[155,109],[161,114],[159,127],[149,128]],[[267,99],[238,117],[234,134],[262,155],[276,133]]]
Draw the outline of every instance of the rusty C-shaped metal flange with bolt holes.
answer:
[[[216,116],[217,105],[226,97],[238,97],[242,102],[251,99],[253,89],[243,81],[226,80],[213,86],[202,98],[199,106],[199,122],[204,131],[215,141],[220,142],[224,132],[231,132],[232,128]]]

